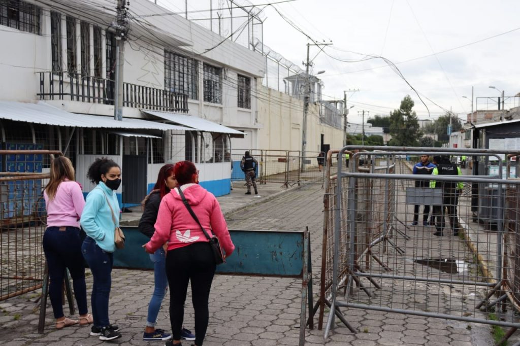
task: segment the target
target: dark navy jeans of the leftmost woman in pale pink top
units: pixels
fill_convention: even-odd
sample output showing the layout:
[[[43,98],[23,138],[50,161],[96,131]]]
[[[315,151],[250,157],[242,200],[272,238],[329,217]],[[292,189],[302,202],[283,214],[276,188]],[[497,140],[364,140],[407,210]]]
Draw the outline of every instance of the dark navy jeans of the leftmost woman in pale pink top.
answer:
[[[61,231],[60,231],[61,229]],[[63,317],[62,287],[66,268],[74,287],[77,309],[88,312],[85,268],[81,257],[80,229],[77,227],[48,227],[43,235],[43,251],[49,267],[49,298],[54,318]]]

